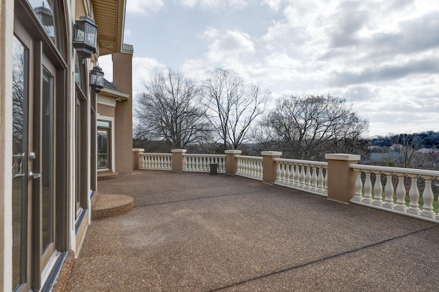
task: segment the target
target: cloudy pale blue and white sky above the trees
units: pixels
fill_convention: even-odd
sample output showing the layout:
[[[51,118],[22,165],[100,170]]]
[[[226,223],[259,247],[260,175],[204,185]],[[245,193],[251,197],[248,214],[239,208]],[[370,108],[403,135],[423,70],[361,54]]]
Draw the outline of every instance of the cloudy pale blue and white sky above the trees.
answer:
[[[369,135],[439,131],[437,0],[126,0],[133,95],[154,68],[233,69],[275,98],[333,94]],[[99,58],[112,80],[108,57]]]

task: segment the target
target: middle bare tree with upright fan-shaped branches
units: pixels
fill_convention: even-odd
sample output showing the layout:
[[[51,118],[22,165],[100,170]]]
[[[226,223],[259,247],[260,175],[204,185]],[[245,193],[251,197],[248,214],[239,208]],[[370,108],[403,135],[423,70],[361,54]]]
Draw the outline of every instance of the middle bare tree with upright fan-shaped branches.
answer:
[[[246,84],[236,72],[219,68],[207,73],[203,88],[208,118],[222,147],[237,149],[248,142],[250,127],[263,113],[271,93]]]

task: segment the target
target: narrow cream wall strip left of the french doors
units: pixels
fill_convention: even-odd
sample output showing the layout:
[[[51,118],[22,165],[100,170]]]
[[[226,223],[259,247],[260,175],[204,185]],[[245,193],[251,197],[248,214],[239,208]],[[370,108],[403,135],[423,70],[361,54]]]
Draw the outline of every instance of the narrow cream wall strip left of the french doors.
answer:
[[[0,1],[0,290],[12,291],[12,34],[13,1]]]

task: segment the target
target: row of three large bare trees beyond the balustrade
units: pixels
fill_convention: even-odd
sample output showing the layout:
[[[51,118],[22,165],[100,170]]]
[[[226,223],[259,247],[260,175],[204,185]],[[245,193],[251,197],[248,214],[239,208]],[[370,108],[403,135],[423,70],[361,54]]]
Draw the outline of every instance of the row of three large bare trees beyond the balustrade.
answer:
[[[268,107],[270,96],[232,70],[211,70],[198,83],[180,71],[156,70],[137,96],[134,147],[240,149],[250,155],[279,150],[287,158],[313,160],[331,152],[368,152],[368,120],[345,99],[285,95]]]

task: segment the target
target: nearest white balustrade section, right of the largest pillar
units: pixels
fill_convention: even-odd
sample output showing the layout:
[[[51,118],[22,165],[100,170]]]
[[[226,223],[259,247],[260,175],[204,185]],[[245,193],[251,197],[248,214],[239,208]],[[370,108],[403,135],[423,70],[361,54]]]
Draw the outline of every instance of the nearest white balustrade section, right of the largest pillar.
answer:
[[[355,194],[351,202],[420,219],[439,221],[439,215],[433,207],[435,194],[431,188],[432,181],[439,178],[438,171],[361,164],[351,164],[351,168],[357,174]],[[373,187],[371,174],[375,174]],[[381,179],[385,180],[384,189]],[[420,196],[419,187],[422,185],[424,189]]]

